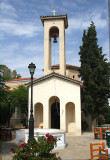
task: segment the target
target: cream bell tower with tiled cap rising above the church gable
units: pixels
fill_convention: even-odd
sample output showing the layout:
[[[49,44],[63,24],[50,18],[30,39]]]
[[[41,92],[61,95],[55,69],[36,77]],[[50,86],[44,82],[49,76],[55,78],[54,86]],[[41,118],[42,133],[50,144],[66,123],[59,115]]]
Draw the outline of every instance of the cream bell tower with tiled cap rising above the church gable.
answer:
[[[59,37],[59,74],[66,74],[66,57],[65,57],[65,29],[68,28],[67,15],[41,16],[44,26],[44,75],[50,74],[51,69],[51,39],[54,43]]]

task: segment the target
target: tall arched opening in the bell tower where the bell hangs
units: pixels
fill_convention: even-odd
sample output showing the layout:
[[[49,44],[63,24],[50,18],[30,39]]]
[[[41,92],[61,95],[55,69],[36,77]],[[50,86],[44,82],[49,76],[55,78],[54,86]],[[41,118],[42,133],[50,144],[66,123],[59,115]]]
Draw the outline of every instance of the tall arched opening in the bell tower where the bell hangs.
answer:
[[[59,29],[53,26],[49,30],[51,66],[59,64]]]

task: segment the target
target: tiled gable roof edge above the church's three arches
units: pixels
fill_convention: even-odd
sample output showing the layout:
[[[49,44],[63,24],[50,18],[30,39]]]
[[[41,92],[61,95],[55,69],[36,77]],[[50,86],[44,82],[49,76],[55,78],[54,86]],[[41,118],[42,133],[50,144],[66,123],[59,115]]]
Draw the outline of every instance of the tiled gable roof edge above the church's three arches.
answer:
[[[38,82],[43,81],[43,80],[46,80],[46,79],[48,79],[48,78],[50,78],[50,77],[53,77],[53,76],[59,77],[59,78],[61,78],[61,79],[64,79],[64,80],[67,80],[67,81],[70,81],[70,82],[73,82],[73,83],[76,83],[76,84],[79,84],[79,85],[82,85],[82,82],[81,82],[81,81],[75,80],[75,79],[73,79],[73,78],[70,78],[70,77],[67,77],[67,76],[64,76],[64,75],[55,73],[55,72],[52,72],[52,73],[50,73],[50,74],[48,74],[48,75],[45,75],[45,76],[43,76],[43,77],[40,77],[40,78],[34,80],[34,81],[33,81],[33,84],[38,83]],[[30,84],[31,84],[30,82],[27,83],[27,86],[30,86]]]

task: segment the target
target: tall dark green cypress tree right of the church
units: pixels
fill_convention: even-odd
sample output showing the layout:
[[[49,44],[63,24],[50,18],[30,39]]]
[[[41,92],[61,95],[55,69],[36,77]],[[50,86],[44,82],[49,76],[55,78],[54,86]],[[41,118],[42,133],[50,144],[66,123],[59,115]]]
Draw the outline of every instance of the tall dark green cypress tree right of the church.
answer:
[[[84,112],[91,114],[92,120],[108,110],[109,70],[107,59],[99,47],[95,25],[91,22],[88,30],[84,30],[82,46],[80,46],[79,69],[83,81],[82,101]]]

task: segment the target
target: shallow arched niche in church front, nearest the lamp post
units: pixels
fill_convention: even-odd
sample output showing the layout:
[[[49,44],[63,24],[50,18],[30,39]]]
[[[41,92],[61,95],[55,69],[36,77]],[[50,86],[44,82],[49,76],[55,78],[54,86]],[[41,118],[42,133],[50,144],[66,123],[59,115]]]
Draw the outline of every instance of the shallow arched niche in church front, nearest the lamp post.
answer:
[[[34,126],[43,126],[43,105],[36,103],[34,106]]]

